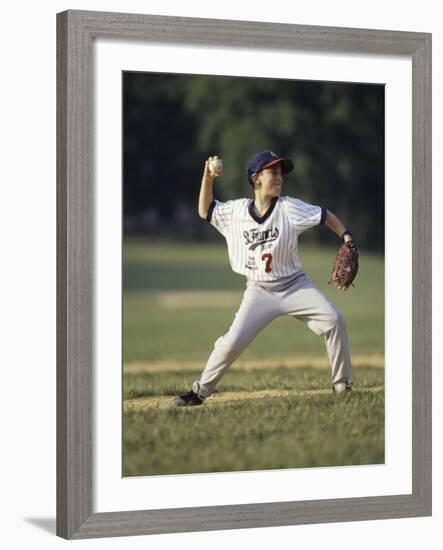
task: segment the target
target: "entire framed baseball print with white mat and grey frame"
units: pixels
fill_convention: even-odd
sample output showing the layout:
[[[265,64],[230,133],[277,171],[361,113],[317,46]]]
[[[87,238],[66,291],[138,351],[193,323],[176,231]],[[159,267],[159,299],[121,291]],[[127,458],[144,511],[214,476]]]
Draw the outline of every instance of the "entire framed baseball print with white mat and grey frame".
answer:
[[[84,11],[57,25],[58,534],[429,515],[431,36]],[[247,196],[233,244],[223,209]],[[248,296],[300,284],[295,241],[289,271],[274,248],[280,211],[312,227],[303,267],[343,315],[291,303],[258,326],[261,300],[238,361],[205,367],[242,270]],[[340,293],[348,224],[360,270]],[[354,387],[338,395],[342,317]]]

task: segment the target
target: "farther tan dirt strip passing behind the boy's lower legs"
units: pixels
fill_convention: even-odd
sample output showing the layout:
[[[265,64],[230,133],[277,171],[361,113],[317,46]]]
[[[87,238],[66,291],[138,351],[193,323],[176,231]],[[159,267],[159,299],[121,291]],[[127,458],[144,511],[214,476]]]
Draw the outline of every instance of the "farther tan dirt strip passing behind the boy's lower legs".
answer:
[[[352,356],[353,368],[383,368],[385,358],[381,353],[355,354]],[[203,369],[203,362],[198,361],[134,361],[125,363],[124,372],[130,374],[144,372],[191,371]],[[264,359],[246,359],[236,361],[231,369],[270,369],[288,368],[329,368],[328,358],[324,355],[296,355],[293,357],[267,357]]]

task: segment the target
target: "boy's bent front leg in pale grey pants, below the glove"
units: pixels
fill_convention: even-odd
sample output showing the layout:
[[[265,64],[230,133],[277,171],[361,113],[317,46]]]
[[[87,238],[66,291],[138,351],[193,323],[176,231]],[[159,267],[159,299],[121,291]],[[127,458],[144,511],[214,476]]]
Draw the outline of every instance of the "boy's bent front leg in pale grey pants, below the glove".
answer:
[[[346,323],[339,309],[307,277],[300,277],[284,293],[282,312],[303,321],[313,332],[323,335],[331,363],[332,384],[351,377],[351,357]]]

